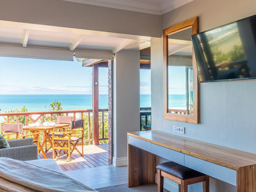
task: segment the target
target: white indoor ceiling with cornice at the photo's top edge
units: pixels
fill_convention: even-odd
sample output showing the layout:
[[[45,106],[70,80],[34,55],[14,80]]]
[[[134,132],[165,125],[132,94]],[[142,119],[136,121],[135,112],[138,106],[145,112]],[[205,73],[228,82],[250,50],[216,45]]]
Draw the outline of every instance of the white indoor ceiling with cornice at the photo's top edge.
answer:
[[[63,0],[162,15],[193,0]]]

